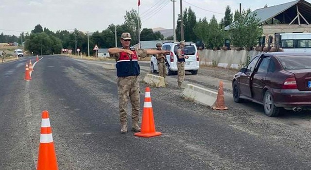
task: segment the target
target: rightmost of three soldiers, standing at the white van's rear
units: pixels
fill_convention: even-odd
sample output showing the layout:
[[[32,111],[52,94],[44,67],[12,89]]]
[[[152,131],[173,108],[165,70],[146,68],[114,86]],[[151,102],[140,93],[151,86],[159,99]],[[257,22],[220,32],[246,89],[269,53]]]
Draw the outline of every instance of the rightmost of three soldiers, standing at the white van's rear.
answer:
[[[180,41],[179,48],[177,50],[178,88],[181,88],[181,85],[185,79],[185,59],[189,58],[184,52],[185,45],[185,41]]]

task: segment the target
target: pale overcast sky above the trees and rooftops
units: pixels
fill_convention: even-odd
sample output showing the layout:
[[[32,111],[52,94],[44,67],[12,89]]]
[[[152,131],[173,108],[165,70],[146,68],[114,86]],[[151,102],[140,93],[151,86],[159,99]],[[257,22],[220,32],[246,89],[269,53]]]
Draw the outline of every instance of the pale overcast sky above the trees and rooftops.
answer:
[[[182,0],[183,10],[191,7],[197,19],[213,15],[218,21],[231,11],[250,8],[252,11],[294,0]],[[311,1],[311,0],[307,0]],[[103,31],[110,24],[122,24],[126,11],[138,10],[138,0],[0,0],[0,33],[19,35],[31,32],[35,25],[56,32]],[[180,14],[180,0],[175,2],[175,18]],[[172,0],[140,0],[139,15],[142,28],[173,28]]]

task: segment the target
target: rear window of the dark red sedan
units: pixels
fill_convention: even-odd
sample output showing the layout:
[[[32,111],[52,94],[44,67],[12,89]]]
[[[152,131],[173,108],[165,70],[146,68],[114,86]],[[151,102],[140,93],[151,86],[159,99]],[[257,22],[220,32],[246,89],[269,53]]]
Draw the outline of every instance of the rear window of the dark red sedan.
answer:
[[[284,70],[311,69],[311,56],[278,57]]]

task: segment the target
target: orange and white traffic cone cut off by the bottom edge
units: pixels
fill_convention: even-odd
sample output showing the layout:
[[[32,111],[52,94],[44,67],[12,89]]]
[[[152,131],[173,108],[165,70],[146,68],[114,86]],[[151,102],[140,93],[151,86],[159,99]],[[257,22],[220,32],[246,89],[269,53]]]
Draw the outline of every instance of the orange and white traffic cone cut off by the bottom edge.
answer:
[[[58,170],[49,112],[42,112],[37,170]]]

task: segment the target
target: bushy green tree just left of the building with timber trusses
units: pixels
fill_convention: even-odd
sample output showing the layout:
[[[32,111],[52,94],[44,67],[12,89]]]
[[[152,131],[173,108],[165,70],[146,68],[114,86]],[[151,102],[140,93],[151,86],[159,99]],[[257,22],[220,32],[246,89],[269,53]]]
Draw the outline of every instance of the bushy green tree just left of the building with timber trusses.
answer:
[[[260,19],[256,14],[250,14],[251,10],[243,10],[241,15],[234,16],[235,22],[230,26],[231,42],[235,47],[244,47],[251,50],[258,43],[258,38],[262,35]]]

